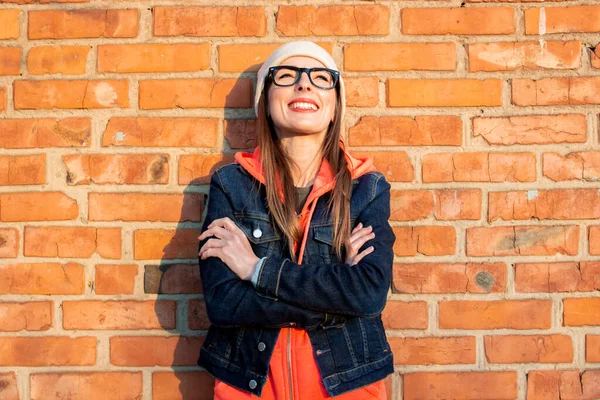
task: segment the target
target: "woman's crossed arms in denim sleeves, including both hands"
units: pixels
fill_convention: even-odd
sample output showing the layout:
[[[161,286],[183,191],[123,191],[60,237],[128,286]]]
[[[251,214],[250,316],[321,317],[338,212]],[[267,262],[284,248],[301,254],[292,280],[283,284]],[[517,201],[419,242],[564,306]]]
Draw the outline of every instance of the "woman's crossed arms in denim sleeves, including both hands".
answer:
[[[325,321],[328,314],[379,314],[390,286],[395,238],[387,222],[389,184],[382,180],[375,186],[374,199],[347,241],[346,263],[298,265],[268,257],[254,287],[248,279],[258,258],[231,221],[233,210],[215,173],[199,253],[211,322],[260,326],[293,322],[309,329]],[[206,240],[211,236],[214,238]],[[359,251],[367,241],[372,245]]]

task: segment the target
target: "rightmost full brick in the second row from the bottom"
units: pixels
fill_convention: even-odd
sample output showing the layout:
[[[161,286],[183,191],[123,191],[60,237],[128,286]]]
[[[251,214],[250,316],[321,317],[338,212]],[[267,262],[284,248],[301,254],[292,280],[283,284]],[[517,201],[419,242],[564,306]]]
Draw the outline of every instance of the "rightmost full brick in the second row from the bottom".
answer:
[[[570,363],[573,343],[567,335],[485,336],[488,363]]]

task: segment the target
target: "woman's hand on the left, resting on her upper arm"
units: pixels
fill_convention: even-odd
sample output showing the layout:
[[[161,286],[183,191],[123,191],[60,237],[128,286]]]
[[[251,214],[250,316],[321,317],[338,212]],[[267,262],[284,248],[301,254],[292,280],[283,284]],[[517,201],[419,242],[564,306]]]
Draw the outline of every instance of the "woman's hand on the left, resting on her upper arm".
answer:
[[[248,238],[228,217],[215,219],[198,236],[198,240],[208,239],[198,255],[202,260],[218,257],[242,280],[250,280],[259,258],[256,257]]]

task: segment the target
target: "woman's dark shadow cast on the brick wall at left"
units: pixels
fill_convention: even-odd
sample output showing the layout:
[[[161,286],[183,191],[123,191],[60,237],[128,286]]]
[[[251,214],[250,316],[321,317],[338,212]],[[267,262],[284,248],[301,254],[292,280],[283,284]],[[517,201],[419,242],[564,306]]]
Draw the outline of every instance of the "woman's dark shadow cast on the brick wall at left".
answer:
[[[246,72],[250,71],[252,69]],[[247,118],[247,109],[244,113],[227,108],[232,107],[230,104],[235,104],[233,107],[240,104],[240,88],[247,88],[247,82],[239,86],[236,83],[225,101],[221,148],[227,152],[229,147],[230,154],[223,157],[218,154],[197,154],[191,163],[195,177],[189,179],[183,174],[182,178],[182,174],[178,174],[179,184],[187,185],[183,192],[180,220],[171,240],[163,248],[160,264],[144,266],[144,291],[147,294],[157,294],[155,312],[159,321],[169,320],[162,314],[165,310],[171,312],[172,307],[175,307],[176,315],[175,326],[161,322],[163,329],[172,335],[167,340],[167,354],[172,353],[172,357],[157,368],[170,367],[171,370],[153,372],[154,400],[213,398],[214,378],[197,365],[200,347],[210,326],[198,267],[198,236],[208,201],[208,184],[212,173],[218,167],[233,162],[231,153],[241,149],[250,150],[256,145],[254,120],[241,119]],[[249,96],[251,104],[252,93]],[[186,167],[189,169],[189,165]]]

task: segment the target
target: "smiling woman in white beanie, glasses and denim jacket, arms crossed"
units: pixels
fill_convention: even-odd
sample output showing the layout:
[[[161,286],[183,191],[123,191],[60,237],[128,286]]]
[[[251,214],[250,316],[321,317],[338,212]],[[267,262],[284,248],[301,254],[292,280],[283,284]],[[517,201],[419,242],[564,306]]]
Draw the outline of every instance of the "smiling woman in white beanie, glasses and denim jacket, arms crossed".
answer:
[[[340,141],[343,80],[311,42],[257,74],[258,147],[212,176],[199,263],[215,399],[385,399],[389,184]]]

